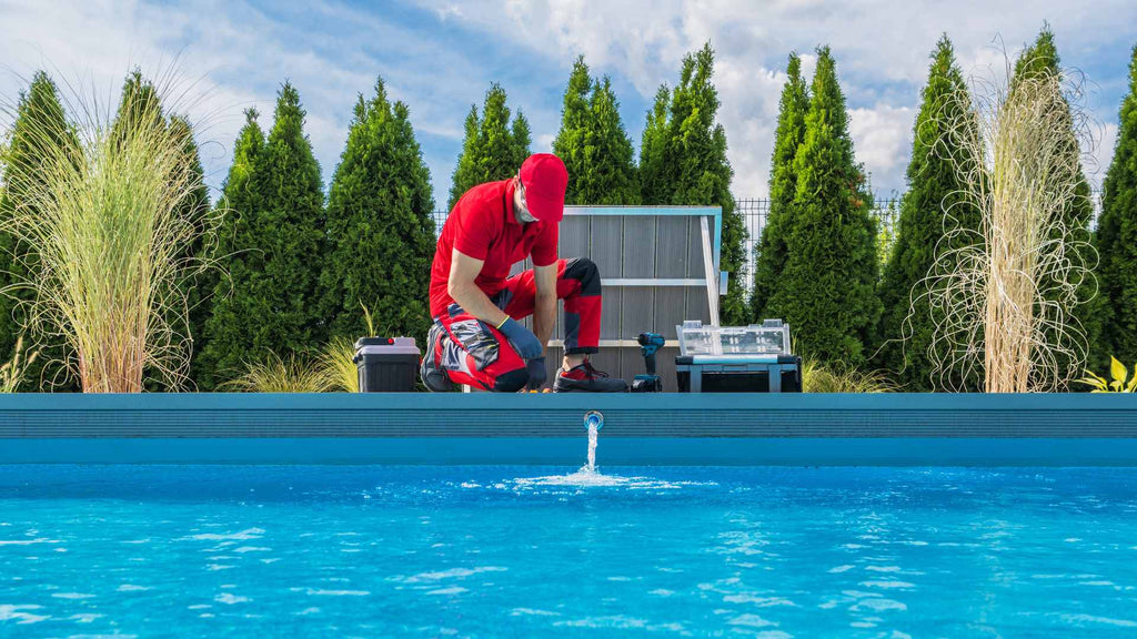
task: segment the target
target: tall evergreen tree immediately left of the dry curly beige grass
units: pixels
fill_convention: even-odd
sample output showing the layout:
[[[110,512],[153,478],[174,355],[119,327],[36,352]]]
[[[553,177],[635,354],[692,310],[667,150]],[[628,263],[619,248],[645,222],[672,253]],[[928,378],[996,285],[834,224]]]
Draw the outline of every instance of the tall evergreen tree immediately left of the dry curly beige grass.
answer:
[[[980,231],[979,213],[965,206],[960,173],[969,173],[957,164],[961,158],[948,156],[944,148],[945,126],[966,122],[961,108],[970,105],[966,82],[955,63],[955,50],[947,35],[940,38],[931,53],[928,84],[921,92],[922,102],[912,136],[912,159],[908,163],[908,190],[901,200],[899,233],[885,266],[880,287],[883,304],[879,362],[895,373],[906,390],[933,390],[930,377],[933,364],[928,355],[932,346],[936,318],[921,290],[924,277],[937,259],[936,250],[960,248],[974,241]],[[946,211],[949,211],[947,214]],[[940,241],[945,230],[963,227],[974,231],[955,235],[951,244]],[[910,317],[910,310],[912,310]],[[977,387],[953,382],[952,388]]]

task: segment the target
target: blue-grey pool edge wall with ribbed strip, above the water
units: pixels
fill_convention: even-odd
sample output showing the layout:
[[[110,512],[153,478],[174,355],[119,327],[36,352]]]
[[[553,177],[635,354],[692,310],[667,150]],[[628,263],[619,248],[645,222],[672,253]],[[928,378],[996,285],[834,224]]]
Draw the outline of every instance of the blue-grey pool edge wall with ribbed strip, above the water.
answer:
[[[0,396],[0,464],[1137,466],[1137,395]]]

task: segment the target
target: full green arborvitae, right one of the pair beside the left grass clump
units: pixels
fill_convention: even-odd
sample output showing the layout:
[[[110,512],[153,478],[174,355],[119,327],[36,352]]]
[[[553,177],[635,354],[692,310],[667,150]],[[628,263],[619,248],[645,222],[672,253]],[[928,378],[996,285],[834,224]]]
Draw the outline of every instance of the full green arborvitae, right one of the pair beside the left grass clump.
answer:
[[[255,157],[249,208],[231,214],[241,218],[225,240],[236,251],[226,260],[233,292],[215,300],[206,322],[205,357],[215,379],[269,350],[310,350],[326,335],[317,298],[324,196],[304,118],[300,96],[285,83],[268,140]]]

